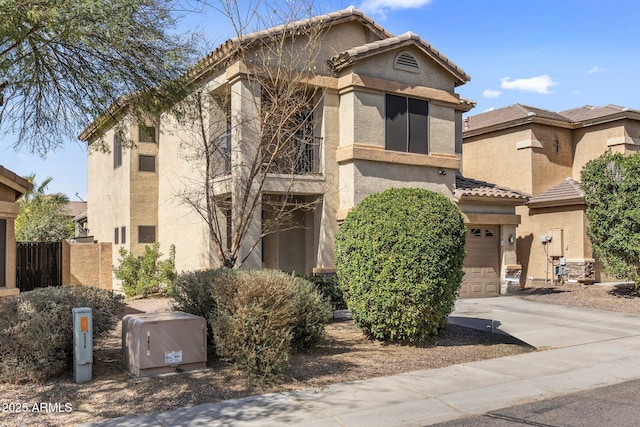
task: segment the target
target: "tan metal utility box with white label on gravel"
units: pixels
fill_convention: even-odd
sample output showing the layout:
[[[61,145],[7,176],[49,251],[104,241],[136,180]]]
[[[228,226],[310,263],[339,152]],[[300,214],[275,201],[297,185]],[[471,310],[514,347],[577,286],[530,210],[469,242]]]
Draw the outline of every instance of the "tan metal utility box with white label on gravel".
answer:
[[[138,377],[204,369],[207,323],[181,311],[124,316],[122,363]]]

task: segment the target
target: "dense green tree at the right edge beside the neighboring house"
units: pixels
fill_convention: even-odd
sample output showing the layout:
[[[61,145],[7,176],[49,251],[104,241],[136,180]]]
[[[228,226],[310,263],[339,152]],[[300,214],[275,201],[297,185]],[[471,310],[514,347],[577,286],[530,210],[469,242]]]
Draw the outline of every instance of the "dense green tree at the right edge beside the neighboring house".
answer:
[[[606,271],[640,283],[640,154],[607,151],[581,172],[587,235]]]

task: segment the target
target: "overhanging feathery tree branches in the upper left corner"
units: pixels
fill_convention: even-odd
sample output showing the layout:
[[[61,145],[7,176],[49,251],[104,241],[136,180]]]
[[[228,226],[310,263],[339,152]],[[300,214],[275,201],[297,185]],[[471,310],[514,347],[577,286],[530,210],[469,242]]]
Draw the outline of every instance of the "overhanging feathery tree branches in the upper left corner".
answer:
[[[181,3],[0,0],[0,130],[44,154],[124,95],[131,111],[173,99],[193,52],[172,31]]]

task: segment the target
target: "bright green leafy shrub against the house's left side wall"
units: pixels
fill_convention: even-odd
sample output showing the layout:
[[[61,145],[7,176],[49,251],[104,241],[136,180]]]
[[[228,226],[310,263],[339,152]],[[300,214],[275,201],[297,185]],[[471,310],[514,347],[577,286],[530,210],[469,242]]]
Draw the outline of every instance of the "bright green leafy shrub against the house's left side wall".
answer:
[[[122,280],[127,297],[148,296],[169,292],[176,279],[176,248],[171,245],[169,258],[160,261],[160,244],[145,246],[144,255],[135,256],[126,248],[120,248],[118,266],[113,268],[116,279]]]

